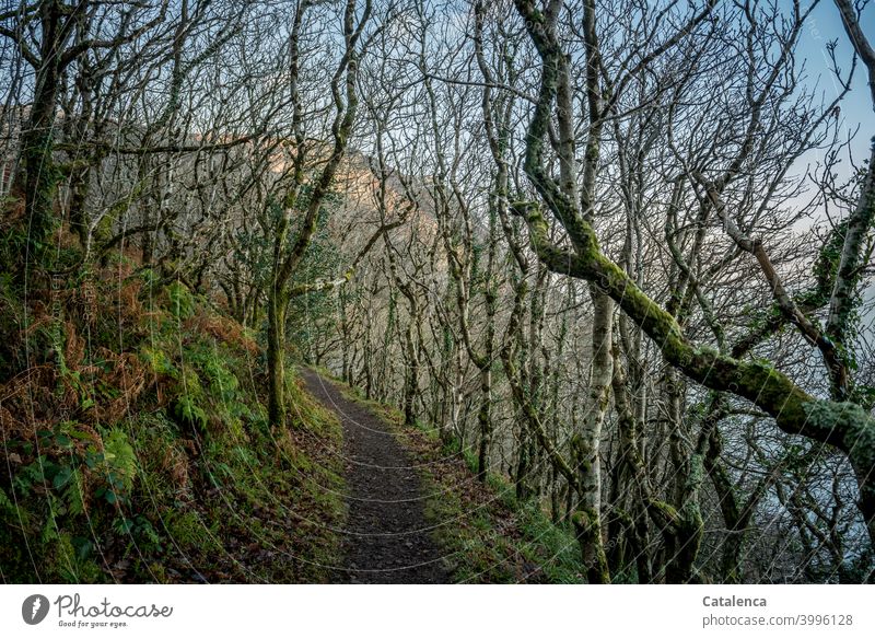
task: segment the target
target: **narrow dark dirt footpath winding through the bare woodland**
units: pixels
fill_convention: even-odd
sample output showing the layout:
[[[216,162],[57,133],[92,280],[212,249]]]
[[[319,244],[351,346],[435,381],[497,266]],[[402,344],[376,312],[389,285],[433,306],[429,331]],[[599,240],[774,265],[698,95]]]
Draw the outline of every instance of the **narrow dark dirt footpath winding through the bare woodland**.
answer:
[[[350,487],[339,582],[443,583],[448,577],[428,534],[422,487],[404,449],[368,408],[348,401],[329,381],[302,370],[307,390],[337,413]]]

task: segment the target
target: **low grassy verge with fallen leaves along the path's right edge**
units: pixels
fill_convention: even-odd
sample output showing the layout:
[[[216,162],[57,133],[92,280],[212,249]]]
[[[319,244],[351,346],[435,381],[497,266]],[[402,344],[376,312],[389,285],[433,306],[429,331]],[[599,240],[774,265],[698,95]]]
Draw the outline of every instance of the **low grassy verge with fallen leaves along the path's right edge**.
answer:
[[[474,454],[457,440],[442,442],[425,424],[407,427],[394,407],[341,386],[392,426],[417,465],[425,517],[455,582],[585,582],[574,534],[555,524],[537,502],[520,502],[514,487],[498,475],[479,482]]]

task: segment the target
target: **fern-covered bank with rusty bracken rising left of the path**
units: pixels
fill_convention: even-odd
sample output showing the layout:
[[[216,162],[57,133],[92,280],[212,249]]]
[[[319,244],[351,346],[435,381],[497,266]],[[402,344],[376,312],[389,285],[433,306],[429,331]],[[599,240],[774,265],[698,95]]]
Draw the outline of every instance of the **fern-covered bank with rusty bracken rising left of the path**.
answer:
[[[122,260],[52,287],[25,308],[0,279],[0,579],[329,580],[336,417],[290,371],[271,427],[256,335],[182,282]]]

